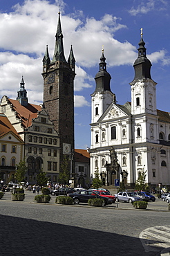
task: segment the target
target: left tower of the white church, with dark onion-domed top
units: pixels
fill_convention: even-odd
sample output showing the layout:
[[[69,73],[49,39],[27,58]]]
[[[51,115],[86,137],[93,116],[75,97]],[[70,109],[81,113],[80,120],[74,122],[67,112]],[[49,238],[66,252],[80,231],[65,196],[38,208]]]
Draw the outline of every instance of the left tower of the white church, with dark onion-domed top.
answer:
[[[115,94],[111,91],[111,75],[106,71],[105,60],[104,50],[102,50],[102,56],[100,57],[99,64],[100,70],[95,75],[95,91],[91,94],[92,123],[97,122],[111,102],[116,102]]]

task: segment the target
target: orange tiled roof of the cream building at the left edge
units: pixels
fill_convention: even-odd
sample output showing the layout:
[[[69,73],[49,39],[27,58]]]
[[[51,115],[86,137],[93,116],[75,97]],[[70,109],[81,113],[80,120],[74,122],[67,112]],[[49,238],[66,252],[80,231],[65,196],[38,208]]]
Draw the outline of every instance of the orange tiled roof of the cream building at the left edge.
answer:
[[[6,117],[6,115],[4,115],[4,113],[0,113],[0,138],[9,133],[14,134],[15,137],[17,137],[19,140],[22,140],[16,129],[12,126],[12,124]]]

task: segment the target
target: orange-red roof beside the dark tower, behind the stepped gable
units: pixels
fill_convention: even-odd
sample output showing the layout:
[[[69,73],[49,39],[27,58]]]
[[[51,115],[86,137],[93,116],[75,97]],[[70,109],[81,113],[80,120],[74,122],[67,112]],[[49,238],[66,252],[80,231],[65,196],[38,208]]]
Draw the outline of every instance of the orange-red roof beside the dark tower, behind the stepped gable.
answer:
[[[41,111],[40,105],[30,104],[22,106],[18,100],[8,98],[8,103],[12,104],[12,109],[17,112],[17,118],[21,119],[24,128],[30,127],[32,118],[37,118],[38,111]]]

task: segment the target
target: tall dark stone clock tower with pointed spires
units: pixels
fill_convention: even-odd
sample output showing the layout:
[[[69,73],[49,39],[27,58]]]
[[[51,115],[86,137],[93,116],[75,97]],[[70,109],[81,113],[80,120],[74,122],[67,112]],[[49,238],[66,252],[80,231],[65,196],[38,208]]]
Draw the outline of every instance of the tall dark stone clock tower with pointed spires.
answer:
[[[60,165],[63,154],[74,149],[74,79],[75,57],[70,47],[68,61],[64,55],[60,13],[55,35],[55,51],[50,60],[48,46],[43,59],[44,106],[55,131],[60,136]]]

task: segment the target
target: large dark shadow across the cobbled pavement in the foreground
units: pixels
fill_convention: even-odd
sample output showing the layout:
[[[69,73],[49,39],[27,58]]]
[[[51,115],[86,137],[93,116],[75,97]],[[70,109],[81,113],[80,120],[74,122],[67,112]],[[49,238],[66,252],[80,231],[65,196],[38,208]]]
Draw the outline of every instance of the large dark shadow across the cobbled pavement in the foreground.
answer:
[[[0,219],[1,256],[155,255],[145,253],[135,237],[5,215]]]

